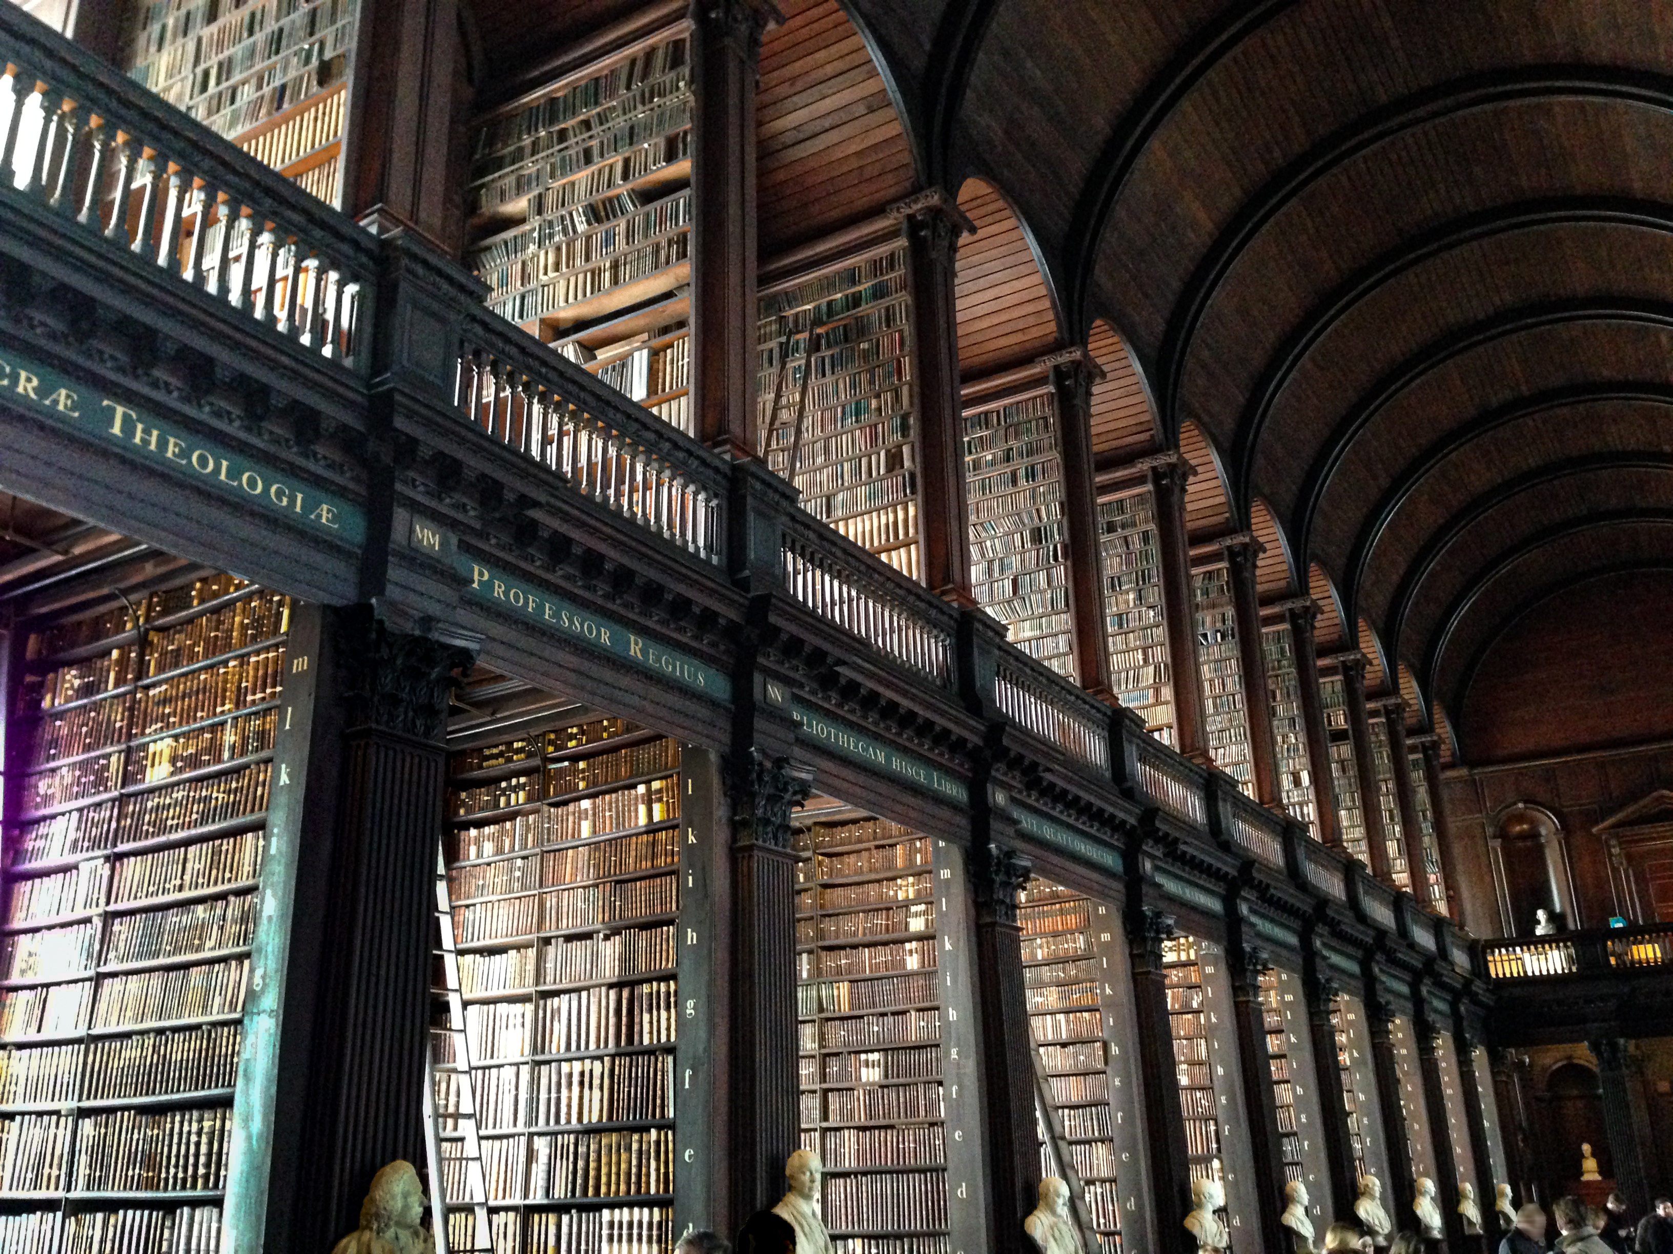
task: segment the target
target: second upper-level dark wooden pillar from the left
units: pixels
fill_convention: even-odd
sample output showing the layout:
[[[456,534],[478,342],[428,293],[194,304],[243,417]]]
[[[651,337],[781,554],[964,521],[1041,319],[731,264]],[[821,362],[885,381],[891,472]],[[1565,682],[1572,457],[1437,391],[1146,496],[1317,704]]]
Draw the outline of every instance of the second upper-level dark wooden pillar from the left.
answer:
[[[755,92],[771,0],[691,5],[691,314],[698,438],[755,456]]]

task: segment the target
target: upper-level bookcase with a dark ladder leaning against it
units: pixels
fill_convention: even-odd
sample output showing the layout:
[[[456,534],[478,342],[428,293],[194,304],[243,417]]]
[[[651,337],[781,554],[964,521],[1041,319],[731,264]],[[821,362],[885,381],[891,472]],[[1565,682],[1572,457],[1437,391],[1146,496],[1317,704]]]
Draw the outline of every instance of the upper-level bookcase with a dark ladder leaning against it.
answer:
[[[920,577],[912,296],[898,236],[765,284],[756,428],[801,508]]]

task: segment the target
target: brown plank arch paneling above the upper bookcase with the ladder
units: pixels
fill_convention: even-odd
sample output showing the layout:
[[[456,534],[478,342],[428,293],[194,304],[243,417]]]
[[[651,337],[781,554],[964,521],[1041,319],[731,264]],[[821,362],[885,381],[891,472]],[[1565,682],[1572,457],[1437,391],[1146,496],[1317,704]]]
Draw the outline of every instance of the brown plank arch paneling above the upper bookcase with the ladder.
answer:
[[[763,257],[912,192],[912,149],[836,0],[790,0],[761,43],[756,202]]]

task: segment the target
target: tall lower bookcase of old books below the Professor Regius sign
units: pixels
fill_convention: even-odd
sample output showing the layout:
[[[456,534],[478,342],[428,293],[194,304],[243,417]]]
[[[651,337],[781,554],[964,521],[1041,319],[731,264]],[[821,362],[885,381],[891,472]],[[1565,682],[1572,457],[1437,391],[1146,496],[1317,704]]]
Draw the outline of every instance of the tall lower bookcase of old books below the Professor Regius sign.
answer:
[[[681,746],[609,717],[477,739],[448,754],[443,836],[468,1070],[443,990],[432,1030],[450,1244],[663,1254],[678,1237]]]

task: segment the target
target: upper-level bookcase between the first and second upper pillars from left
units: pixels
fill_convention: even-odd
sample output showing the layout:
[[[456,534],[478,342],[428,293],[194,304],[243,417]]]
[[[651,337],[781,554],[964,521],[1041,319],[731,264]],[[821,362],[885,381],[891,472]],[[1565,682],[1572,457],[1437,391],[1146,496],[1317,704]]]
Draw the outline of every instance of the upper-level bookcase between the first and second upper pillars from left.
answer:
[[[465,187],[489,308],[686,435],[691,115],[676,27],[482,119]]]

